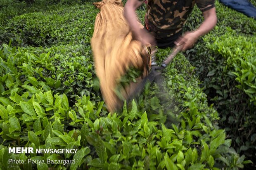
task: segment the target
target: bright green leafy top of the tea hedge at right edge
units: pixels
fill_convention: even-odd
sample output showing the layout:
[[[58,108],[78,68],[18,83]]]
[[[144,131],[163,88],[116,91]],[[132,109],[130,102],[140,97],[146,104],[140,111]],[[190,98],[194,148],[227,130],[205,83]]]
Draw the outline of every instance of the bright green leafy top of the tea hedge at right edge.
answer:
[[[231,33],[230,33],[231,32]],[[214,39],[208,47],[216,54],[227,60],[227,67],[234,67],[232,72],[236,76],[237,88],[243,90],[249,97],[251,104],[256,105],[256,46],[255,37],[235,36],[233,31],[226,32],[223,36]],[[230,69],[231,70],[231,69]]]

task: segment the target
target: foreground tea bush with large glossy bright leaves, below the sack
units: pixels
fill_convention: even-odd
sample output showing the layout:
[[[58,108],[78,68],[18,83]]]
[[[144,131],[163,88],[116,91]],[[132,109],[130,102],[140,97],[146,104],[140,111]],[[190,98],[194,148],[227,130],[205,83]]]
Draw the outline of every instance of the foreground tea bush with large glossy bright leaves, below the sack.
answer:
[[[54,53],[55,49],[48,50]],[[63,55],[69,54],[66,50],[62,52]],[[140,99],[139,106],[133,101],[130,109],[124,106],[122,113],[108,114],[103,101],[93,98],[94,95],[85,86],[86,93],[73,91],[75,101],[71,104],[71,96],[67,97],[69,93],[59,93],[62,91],[52,86],[58,83],[51,83],[49,76],[46,76],[56,75],[51,79],[60,81],[61,86],[65,85],[65,79],[58,73],[63,71],[65,76],[71,76],[55,63],[59,59],[57,53],[52,57],[49,52],[35,55],[24,48],[3,45],[0,54],[3,71],[0,77],[0,157],[3,169],[11,166],[17,169],[35,168],[31,163],[9,164],[9,158],[31,158],[45,160],[45,163],[46,159],[78,160],[67,165],[70,169],[78,166],[81,169],[233,169],[242,168],[242,163],[248,162],[243,162],[244,156],[239,157],[230,148],[231,140],[225,139],[224,130],[218,129],[218,114],[207,106],[206,96],[198,87],[196,77],[191,76],[193,68],[183,55],[179,55],[166,72],[166,76],[169,75],[168,94],[178,103],[168,103],[176,105],[174,110],[168,111],[176,112],[175,117],[180,120],[170,124],[157,117],[158,114],[159,117],[166,117],[157,95],[149,101]],[[160,51],[159,57],[165,54],[166,51]],[[76,60],[79,61],[78,58]],[[177,62],[184,65],[176,66],[174,63]],[[59,65],[64,67],[65,63],[63,61]],[[85,59],[81,64],[84,67],[89,63]],[[90,80],[91,74],[88,73],[85,78]],[[145,93],[153,95],[156,91],[148,89]],[[143,105],[148,108],[138,110]],[[6,146],[76,148],[79,151],[74,155],[8,154]],[[45,169],[63,165],[41,163],[36,166]]]

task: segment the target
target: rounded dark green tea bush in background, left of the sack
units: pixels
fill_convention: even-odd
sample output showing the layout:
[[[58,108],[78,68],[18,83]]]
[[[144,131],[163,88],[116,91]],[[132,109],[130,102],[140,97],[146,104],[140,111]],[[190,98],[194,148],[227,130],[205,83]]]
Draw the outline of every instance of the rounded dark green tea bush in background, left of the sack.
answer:
[[[0,42],[9,43],[11,40],[13,45],[18,46],[90,44],[91,23],[96,14],[97,10],[92,5],[76,5],[17,16],[0,33]]]

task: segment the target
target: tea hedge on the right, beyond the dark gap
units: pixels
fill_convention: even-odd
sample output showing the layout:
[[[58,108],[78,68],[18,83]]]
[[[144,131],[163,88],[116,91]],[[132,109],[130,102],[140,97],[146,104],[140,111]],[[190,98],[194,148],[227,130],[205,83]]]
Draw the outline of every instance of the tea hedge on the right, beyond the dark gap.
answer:
[[[255,162],[254,57],[256,21],[216,2],[218,24],[197,45],[186,51],[209,103],[220,113],[220,126],[232,138],[232,146]],[[232,17],[230,17],[232,16]],[[193,20],[192,18],[197,18]],[[198,19],[199,18],[199,19]],[[202,21],[193,12],[187,30]],[[197,21],[198,20],[198,21]],[[192,24],[191,24],[192,23]],[[251,165],[249,165],[249,167]]]

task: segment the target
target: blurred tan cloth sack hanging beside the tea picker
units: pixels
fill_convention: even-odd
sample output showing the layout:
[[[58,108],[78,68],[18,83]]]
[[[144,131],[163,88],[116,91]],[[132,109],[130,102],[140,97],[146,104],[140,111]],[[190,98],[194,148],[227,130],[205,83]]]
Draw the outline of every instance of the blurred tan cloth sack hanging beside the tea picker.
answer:
[[[115,94],[118,80],[132,67],[141,69],[142,77],[146,76],[151,63],[150,48],[142,47],[140,41],[133,39],[123,16],[121,0],[102,0],[93,4],[100,9],[91,39],[95,70],[107,108],[114,112],[123,103]],[[137,83],[141,78],[137,79]],[[131,83],[123,89],[125,99],[137,83]]]

